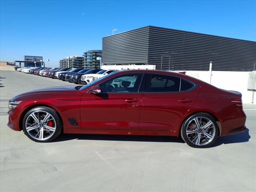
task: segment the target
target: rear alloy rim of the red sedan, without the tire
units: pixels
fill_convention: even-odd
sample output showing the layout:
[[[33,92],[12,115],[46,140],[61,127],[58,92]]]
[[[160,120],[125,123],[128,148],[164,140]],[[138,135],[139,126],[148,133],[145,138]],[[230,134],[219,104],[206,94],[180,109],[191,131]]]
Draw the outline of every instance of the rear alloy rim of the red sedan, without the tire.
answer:
[[[195,117],[188,123],[186,134],[192,144],[205,146],[214,140],[216,127],[209,118]]]

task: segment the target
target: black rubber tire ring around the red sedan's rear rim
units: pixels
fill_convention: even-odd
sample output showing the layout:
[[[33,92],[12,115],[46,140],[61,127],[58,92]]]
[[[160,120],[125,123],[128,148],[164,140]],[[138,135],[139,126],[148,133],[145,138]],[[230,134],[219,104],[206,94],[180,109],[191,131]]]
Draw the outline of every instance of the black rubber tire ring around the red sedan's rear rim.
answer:
[[[206,117],[208,119],[210,119],[214,126],[215,126],[215,136],[213,138],[213,140],[209,143],[209,144],[206,144],[206,145],[203,145],[203,146],[198,146],[196,144],[193,144],[187,134],[186,134],[186,127],[188,126],[188,123],[190,122],[190,120],[196,118],[196,117]],[[209,146],[211,146],[212,144],[214,144],[214,142],[216,141],[216,139],[218,138],[218,135],[219,135],[219,128],[218,128],[218,125],[216,123],[216,120],[209,114],[207,113],[196,113],[196,114],[193,114],[191,116],[189,116],[188,118],[186,118],[186,120],[183,122],[182,124],[182,128],[180,130],[180,134],[182,136],[182,139],[186,142],[186,144],[188,144],[189,146],[191,147],[194,147],[194,148],[207,148]]]

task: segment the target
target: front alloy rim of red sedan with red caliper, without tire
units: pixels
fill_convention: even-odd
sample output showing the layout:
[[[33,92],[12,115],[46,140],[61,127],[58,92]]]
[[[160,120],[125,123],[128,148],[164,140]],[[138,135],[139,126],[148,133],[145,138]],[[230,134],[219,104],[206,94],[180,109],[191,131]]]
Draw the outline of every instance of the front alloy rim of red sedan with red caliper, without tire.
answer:
[[[42,110],[32,112],[25,122],[26,131],[36,140],[47,140],[56,130],[56,120],[54,117]]]

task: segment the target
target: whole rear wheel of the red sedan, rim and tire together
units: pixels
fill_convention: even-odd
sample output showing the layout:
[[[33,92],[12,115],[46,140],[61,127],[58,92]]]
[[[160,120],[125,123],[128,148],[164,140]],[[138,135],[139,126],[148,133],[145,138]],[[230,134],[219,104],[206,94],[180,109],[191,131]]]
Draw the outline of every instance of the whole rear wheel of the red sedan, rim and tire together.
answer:
[[[216,120],[206,113],[189,116],[181,128],[182,139],[191,147],[207,148],[217,139],[219,134]]]

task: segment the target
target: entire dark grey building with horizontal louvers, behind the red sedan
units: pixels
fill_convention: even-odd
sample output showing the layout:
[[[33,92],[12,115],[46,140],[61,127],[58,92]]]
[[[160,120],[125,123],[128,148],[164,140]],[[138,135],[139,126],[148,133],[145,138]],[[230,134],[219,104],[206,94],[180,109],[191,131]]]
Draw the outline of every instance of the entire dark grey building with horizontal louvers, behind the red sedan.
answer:
[[[102,38],[104,65],[156,65],[156,70],[252,71],[256,42],[156,26]],[[125,67],[125,66],[124,66]]]

